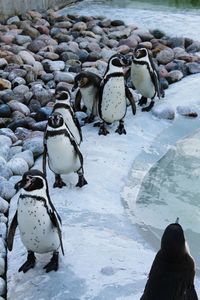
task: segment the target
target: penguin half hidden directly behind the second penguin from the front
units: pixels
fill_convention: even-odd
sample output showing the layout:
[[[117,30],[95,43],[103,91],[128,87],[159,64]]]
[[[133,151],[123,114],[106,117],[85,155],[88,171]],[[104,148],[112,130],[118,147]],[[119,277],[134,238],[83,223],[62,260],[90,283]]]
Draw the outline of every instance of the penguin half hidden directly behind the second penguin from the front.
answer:
[[[63,115],[64,121],[67,124],[68,129],[71,134],[74,136],[78,145],[80,145],[82,141],[82,132],[81,127],[79,125],[78,119],[74,113],[74,110],[70,104],[71,94],[67,88],[63,90],[62,87],[57,88],[55,91],[55,104],[53,106],[54,112],[59,112]]]

